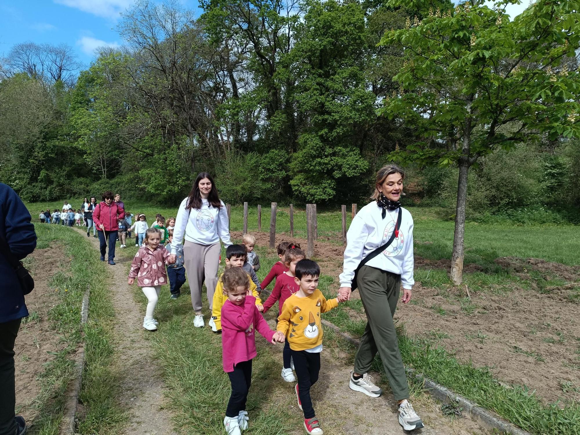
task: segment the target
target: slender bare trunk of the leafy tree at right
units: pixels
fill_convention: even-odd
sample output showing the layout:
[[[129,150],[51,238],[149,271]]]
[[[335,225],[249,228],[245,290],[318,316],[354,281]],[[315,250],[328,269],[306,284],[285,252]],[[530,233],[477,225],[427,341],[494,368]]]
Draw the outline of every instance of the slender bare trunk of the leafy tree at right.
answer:
[[[454,285],[463,282],[463,236],[465,235],[465,206],[467,204],[467,173],[469,158],[459,158],[459,182],[457,184],[457,205],[455,207],[455,234],[453,255],[451,256],[451,281]]]

